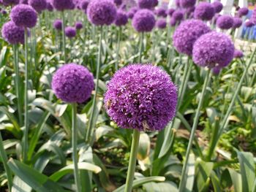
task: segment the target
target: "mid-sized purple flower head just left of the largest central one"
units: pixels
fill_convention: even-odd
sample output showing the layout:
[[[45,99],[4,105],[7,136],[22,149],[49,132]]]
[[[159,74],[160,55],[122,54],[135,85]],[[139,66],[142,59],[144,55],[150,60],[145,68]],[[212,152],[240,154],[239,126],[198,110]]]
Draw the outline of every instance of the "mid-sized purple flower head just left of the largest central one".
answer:
[[[53,75],[53,92],[67,103],[83,103],[91,97],[94,77],[84,66],[65,64]]]

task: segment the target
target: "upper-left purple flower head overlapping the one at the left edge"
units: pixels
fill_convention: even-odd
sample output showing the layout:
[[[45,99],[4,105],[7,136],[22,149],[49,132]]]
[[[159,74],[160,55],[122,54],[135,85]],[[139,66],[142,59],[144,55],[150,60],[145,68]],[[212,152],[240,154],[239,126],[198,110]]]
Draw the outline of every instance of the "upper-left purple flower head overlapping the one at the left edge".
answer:
[[[12,8],[10,18],[16,26],[33,28],[37,24],[36,10],[27,4],[18,4]]]

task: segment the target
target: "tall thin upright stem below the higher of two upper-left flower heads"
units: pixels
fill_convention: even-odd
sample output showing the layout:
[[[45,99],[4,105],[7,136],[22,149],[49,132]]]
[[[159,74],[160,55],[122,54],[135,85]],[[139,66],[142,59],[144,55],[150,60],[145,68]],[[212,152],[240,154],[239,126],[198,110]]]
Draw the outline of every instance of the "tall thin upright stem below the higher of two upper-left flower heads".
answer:
[[[25,28],[25,131],[23,136],[23,161],[26,162],[27,159],[27,150],[29,147],[29,96],[28,96],[28,89],[29,89],[29,69],[28,69],[28,30]]]

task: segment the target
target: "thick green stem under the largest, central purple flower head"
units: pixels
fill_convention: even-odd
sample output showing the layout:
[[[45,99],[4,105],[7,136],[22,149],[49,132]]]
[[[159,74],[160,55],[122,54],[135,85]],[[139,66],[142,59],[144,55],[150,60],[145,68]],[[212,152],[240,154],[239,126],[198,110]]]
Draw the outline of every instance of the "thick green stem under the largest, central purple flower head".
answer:
[[[136,167],[136,161],[137,161],[139,141],[140,141],[140,131],[135,129],[133,131],[133,136],[132,136],[132,147],[131,147],[131,153],[129,155],[129,166],[128,166],[128,172],[127,172],[127,182],[125,184],[124,192],[131,192],[132,191],[132,183],[133,183],[134,174],[135,174],[135,167]]]

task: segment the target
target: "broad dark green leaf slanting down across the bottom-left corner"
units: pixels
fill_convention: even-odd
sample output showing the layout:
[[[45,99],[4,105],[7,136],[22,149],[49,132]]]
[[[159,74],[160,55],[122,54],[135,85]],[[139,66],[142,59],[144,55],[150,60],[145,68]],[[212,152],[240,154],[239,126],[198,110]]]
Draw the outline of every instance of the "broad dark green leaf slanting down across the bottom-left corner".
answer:
[[[64,191],[58,185],[58,183],[50,180],[45,174],[37,172],[37,170],[31,168],[26,164],[21,163],[20,161],[10,159],[7,164],[8,166],[10,166],[12,172],[20,177],[23,182],[31,186],[31,188],[33,188],[35,191]]]

